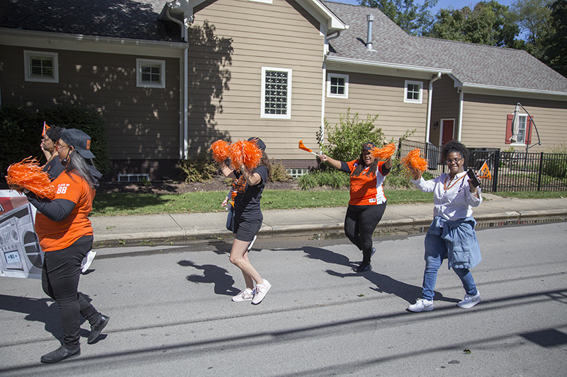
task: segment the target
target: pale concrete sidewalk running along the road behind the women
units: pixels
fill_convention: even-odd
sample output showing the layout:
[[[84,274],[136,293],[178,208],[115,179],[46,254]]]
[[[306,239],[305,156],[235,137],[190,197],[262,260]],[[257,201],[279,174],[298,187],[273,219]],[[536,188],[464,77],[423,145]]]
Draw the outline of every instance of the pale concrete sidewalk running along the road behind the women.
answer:
[[[510,199],[483,194],[483,203],[474,209],[477,221],[524,219],[534,216],[567,216],[567,198]],[[344,207],[263,211],[259,235],[285,232],[341,231]],[[94,241],[155,240],[167,238],[204,238],[227,235],[226,212],[206,214],[161,214],[146,216],[91,217]],[[386,208],[378,228],[427,225],[432,220],[433,204],[394,204]]]

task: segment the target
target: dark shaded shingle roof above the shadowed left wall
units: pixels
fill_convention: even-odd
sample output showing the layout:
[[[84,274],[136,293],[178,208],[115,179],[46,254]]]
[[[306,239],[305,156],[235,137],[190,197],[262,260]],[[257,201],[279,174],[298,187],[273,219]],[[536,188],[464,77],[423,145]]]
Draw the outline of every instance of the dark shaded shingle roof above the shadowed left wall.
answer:
[[[180,42],[165,0],[1,0],[0,28]]]

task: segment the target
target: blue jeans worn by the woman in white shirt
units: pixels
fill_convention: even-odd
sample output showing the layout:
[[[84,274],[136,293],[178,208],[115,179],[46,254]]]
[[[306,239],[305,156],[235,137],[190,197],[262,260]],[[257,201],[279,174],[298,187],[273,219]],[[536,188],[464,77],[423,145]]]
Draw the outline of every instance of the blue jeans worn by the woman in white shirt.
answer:
[[[425,236],[425,272],[423,273],[423,293],[422,298],[433,300],[437,271],[443,260],[447,257],[447,241],[437,236],[437,234],[427,232]],[[477,294],[476,284],[473,274],[467,268],[453,268],[453,271],[461,282],[467,294],[474,296]]]

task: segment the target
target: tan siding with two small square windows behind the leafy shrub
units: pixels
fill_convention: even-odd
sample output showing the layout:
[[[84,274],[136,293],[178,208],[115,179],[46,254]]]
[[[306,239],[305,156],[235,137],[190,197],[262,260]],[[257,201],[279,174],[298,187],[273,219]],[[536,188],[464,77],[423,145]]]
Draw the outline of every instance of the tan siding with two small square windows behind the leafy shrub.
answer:
[[[412,140],[425,139],[428,81],[423,81],[422,103],[416,104],[403,102],[403,77],[327,71],[329,73],[349,75],[348,99],[325,98],[325,119],[331,127],[338,124],[340,115],[346,115],[350,108],[350,114],[354,116],[358,112],[362,120],[366,120],[366,115],[378,114],[375,125],[382,129],[386,140],[398,138],[408,129],[416,129]]]

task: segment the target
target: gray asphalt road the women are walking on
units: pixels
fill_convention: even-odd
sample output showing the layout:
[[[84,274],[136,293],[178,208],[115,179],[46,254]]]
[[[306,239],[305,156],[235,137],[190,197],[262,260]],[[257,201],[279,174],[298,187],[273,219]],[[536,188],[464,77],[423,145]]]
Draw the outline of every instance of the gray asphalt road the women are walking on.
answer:
[[[59,347],[57,306],[38,280],[2,278],[0,376],[566,376],[567,222],[478,231],[468,310],[443,265],[435,310],[405,311],[423,238],[375,238],[364,274],[342,238],[260,239],[250,259],[273,287],[258,306],[230,300],[227,243],[100,250],[79,288],[111,321],[53,365],[39,359]]]

